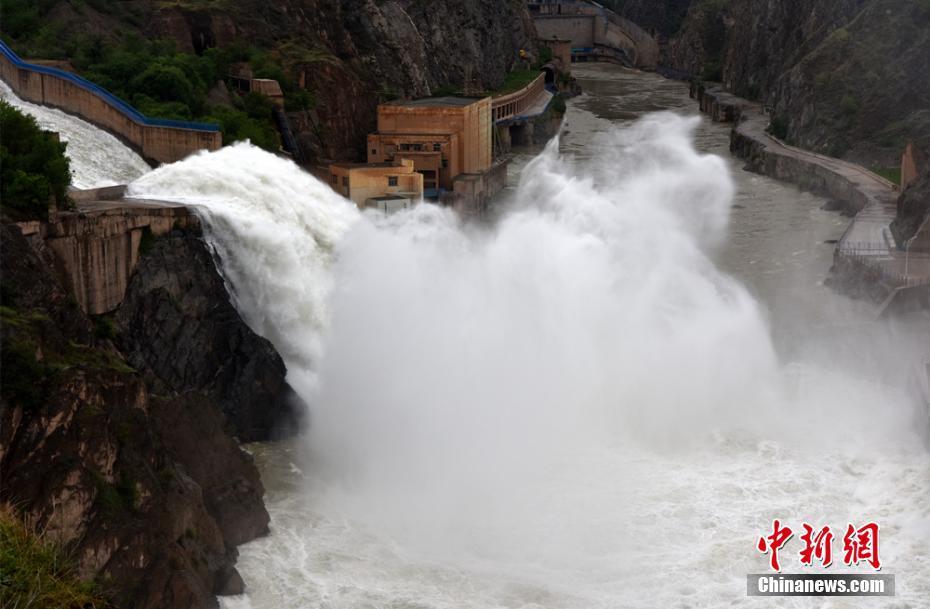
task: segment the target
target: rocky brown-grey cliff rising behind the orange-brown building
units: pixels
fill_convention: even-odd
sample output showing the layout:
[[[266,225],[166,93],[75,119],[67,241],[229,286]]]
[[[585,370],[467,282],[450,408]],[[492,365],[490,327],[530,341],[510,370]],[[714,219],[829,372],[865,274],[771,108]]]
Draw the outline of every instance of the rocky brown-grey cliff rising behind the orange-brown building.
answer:
[[[500,86],[535,33],[521,0],[193,0],[48,3],[48,20],[107,40],[180,50],[264,49],[315,98],[290,118],[311,160],[364,158],[379,101]]]

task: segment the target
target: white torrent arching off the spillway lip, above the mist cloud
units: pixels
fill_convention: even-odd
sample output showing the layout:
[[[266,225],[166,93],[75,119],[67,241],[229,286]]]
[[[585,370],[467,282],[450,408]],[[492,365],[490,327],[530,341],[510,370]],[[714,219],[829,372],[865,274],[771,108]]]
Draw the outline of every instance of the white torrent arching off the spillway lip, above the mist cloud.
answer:
[[[311,391],[330,317],[332,252],[360,217],[355,205],[245,142],[162,165],[127,194],[200,208],[246,322],[277,347],[291,383]]]

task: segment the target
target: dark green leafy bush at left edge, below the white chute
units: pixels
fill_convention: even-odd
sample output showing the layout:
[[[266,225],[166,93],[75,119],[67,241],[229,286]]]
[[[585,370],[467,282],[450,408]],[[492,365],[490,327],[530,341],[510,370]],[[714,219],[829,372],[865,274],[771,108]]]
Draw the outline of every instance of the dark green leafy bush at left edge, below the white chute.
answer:
[[[0,100],[0,209],[14,220],[47,220],[67,205],[71,170],[65,144]]]

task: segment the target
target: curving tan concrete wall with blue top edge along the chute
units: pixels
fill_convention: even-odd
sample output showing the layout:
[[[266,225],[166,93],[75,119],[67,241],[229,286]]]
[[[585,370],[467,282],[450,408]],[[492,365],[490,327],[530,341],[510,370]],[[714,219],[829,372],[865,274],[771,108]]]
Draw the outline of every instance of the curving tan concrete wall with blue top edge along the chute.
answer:
[[[216,150],[223,145],[216,125],[148,118],[88,80],[23,61],[2,41],[0,78],[20,98],[77,115],[118,136],[155,163],[171,163],[197,150]]]

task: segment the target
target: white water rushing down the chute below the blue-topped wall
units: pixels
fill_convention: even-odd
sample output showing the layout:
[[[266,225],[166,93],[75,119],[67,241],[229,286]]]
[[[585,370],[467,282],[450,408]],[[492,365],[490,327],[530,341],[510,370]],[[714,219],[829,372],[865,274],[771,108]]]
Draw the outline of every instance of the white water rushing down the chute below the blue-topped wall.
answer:
[[[42,129],[55,131],[63,142],[68,142],[65,154],[71,161],[71,186],[74,188],[126,184],[152,169],[142,157],[106,131],[61,110],[23,101],[2,80],[0,98],[34,116]]]

